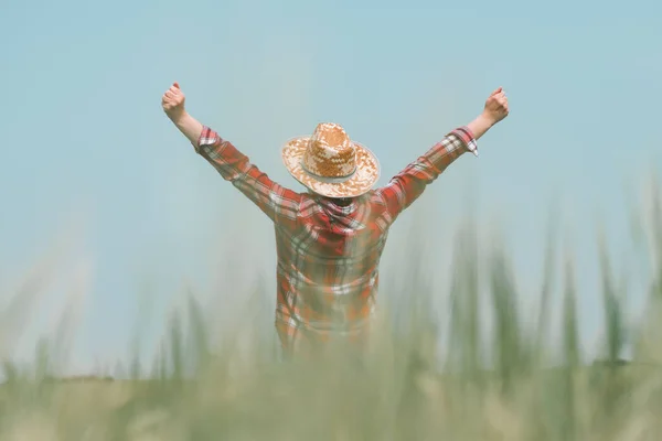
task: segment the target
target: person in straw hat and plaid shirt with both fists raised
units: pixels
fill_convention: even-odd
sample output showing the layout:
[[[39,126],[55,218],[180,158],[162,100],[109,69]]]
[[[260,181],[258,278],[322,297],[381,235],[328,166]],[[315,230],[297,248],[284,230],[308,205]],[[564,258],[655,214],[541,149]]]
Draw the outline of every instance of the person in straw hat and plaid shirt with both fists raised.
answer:
[[[380,280],[380,258],[391,225],[453,161],[509,115],[504,90],[494,90],[482,112],[446,135],[426,153],[375,189],[375,154],[338,123],[321,122],[311,136],[285,142],[281,158],[307,190],[274,182],[229,141],[186,111],[174,83],[162,108],[174,126],[273,222],[277,249],[276,331],[284,354],[324,346],[334,337],[366,335]],[[249,232],[246,232],[249,234]]]

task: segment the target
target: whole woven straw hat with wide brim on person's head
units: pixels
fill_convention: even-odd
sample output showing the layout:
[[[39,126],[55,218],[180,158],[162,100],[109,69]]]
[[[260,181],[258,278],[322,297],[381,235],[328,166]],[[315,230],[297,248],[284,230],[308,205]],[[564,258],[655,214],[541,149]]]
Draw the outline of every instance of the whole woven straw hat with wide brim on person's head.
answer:
[[[292,138],[282,147],[290,174],[317,194],[356,197],[380,179],[380,162],[333,122],[321,122],[311,137]]]

